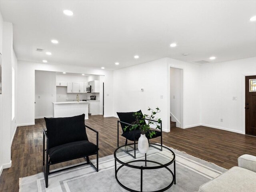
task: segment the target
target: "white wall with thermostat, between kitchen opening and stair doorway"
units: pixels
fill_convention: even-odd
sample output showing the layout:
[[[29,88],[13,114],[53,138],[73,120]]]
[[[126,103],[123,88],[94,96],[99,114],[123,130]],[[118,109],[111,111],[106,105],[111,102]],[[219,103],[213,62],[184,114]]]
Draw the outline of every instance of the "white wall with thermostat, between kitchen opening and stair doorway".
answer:
[[[170,71],[170,70],[169,70]],[[163,130],[170,130],[170,110],[167,115],[167,58],[114,71],[114,114],[159,107]],[[170,82],[170,78],[169,78]],[[144,91],[141,91],[144,88]],[[160,98],[160,95],[163,98]],[[170,103],[170,102],[169,102]],[[169,104],[170,106],[170,104]],[[169,120],[168,120],[169,118]]]

